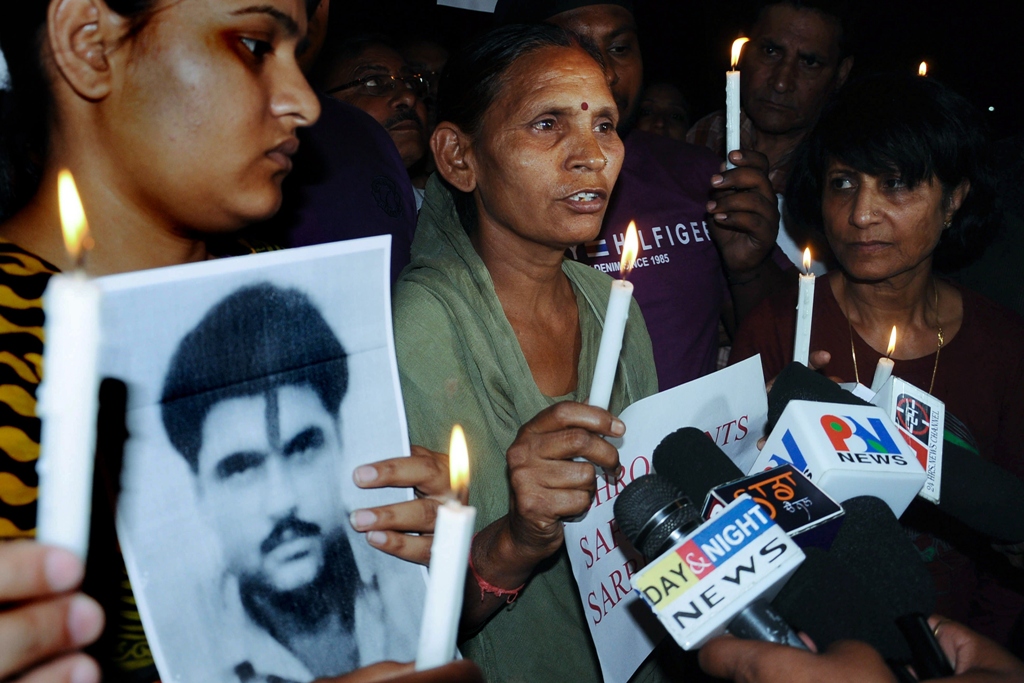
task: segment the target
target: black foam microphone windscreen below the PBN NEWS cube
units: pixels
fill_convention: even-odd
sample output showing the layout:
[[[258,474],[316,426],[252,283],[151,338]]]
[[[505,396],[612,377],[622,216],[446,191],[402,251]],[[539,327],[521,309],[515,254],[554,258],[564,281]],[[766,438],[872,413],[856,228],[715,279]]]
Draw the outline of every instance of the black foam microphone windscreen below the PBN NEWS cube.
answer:
[[[935,585],[892,510],[872,496],[843,503],[843,525],[829,554],[846,565],[889,614],[935,611]]]

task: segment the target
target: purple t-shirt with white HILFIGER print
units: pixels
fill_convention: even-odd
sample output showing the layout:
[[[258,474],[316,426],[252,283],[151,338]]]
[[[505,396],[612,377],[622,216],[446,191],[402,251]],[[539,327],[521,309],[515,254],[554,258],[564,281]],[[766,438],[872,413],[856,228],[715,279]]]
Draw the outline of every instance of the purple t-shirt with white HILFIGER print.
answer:
[[[601,233],[570,250],[577,260],[616,278],[626,228],[636,221],[640,253],[630,282],[650,332],[662,391],[715,370],[727,290],[705,205],[719,164],[707,147],[630,132]]]

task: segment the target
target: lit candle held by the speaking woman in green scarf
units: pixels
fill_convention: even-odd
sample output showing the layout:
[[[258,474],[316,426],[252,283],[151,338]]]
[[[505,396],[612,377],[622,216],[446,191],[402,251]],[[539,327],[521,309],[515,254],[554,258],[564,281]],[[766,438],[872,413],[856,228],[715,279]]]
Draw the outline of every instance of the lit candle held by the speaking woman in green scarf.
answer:
[[[640,245],[637,240],[637,224],[631,220],[626,229],[623,257],[620,260],[621,279],[612,281],[608,307],[604,311],[604,329],[601,332],[601,345],[597,350],[597,366],[594,368],[594,381],[590,385],[588,399],[591,405],[604,410],[608,410],[611,401],[611,386],[615,383],[618,352],[623,350],[623,334],[630,314],[630,301],[633,300],[633,284],[626,279],[630,276],[638,251]]]

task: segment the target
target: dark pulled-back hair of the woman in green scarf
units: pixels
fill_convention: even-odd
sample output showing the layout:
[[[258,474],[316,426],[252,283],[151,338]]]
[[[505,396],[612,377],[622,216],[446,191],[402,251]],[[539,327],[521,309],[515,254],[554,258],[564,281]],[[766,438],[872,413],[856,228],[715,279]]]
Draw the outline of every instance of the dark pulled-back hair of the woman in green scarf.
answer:
[[[546,47],[577,47],[604,69],[604,60],[589,41],[549,24],[511,24],[485,33],[460,51],[441,75],[437,95],[437,120],[450,121],[473,136],[483,115],[507,83],[512,66]],[[463,227],[476,229],[476,205],[472,197],[444,182],[456,200]]]

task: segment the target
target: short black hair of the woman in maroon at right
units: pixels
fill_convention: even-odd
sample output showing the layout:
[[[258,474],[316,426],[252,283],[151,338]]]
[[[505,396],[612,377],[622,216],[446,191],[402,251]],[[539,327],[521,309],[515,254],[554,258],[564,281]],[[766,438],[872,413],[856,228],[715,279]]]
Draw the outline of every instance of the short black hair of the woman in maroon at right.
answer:
[[[800,225],[823,229],[821,194],[831,160],[869,175],[898,173],[908,186],[935,178],[943,197],[965,180],[967,198],[943,230],[936,262],[973,254],[994,224],[986,126],[964,97],[932,78],[883,74],[850,83],[825,106],[794,155],[785,206]]]

